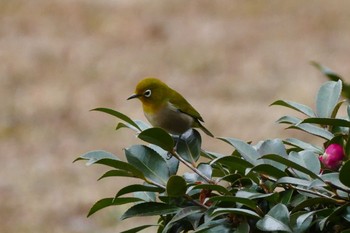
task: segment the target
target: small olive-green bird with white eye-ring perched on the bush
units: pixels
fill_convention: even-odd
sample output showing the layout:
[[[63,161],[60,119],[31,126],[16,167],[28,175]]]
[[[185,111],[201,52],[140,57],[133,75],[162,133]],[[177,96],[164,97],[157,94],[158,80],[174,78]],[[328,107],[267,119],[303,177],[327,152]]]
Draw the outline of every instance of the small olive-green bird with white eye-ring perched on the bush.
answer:
[[[207,135],[214,135],[201,122],[203,118],[178,92],[156,78],[141,80],[135,94],[129,99],[138,98],[142,102],[147,120],[155,127],[171,134],[180,135],[190,128],[200,128]]]

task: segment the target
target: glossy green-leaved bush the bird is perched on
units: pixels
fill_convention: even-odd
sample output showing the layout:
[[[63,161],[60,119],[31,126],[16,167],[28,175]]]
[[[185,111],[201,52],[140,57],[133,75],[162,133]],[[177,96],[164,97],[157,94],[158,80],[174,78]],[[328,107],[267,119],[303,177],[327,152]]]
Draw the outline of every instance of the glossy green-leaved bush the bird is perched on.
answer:
[[[90,151],[77,159],[108,168],[100,179],[136,179],[114,197],[97,201],[88,216],[105,207],[131,203],[121,219],[159,219],[124,233],[148,227],[159,233],[350,232],[350,106],[341,100],[342,91],[348,96],[348,86],[331,70],[314,65],[332,79],[320,87],[315,109],[287,100],[272,105],[302,114],[303,118],[282,116],[277,122],[321,138],[322,145],[297,138],[252,145],[220,137],[217,140],[233,148],[232,154],[223,155],[203,150],[196,130],[174,138],[118,111],[94,109],[121,120],[116,129],[131,129],[144,143],[126,148],[126,161],[106,151]],[[341,105],[347,116],[338,116]],[[339,157],[337,166],[328,167],[320,157],[332,156],[325,150],[334,144],[341,146],[345,157]],[[180,164],[191,172],[179,174]]]

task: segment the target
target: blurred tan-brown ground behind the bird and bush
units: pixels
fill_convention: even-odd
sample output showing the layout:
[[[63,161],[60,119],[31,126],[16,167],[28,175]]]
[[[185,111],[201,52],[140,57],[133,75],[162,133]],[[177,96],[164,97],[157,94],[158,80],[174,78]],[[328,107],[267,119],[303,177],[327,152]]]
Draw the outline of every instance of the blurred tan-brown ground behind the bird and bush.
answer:
[[[277,125],[277,99],[314,106],[326,79],[315,60],[349,80],[349,1],[0,1],[0,232],[120,232],[152,219],[86,218],[126,182],[72,161],[103,149],[124,159],[140,143],[95,107],[145,120],[126,101],[156,76],[182,93],[217,136],[295,136]],[[298,134],[303,139],[305,135]],[[232,148],[203,136],[204,148]],[[150,221],[148,221],[150,220]],[[147,231],[145,231],[147,232]],[[154,232],[154,229],[148,232]]]

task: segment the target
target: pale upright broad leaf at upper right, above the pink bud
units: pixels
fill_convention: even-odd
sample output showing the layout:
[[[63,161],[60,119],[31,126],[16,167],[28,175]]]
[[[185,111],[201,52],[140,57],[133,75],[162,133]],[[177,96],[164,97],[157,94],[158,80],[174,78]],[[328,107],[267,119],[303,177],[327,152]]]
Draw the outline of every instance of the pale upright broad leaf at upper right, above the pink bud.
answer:
[[[330,118],[339,101],[342,82],[329,81],[324,83],[318,91],[316,98],[316,113],[318,117]]]

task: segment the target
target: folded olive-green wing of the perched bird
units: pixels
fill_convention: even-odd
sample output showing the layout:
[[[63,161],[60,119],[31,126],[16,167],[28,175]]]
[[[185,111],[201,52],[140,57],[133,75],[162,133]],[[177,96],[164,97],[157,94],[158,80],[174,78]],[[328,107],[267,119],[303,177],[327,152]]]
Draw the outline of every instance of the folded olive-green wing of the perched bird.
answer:
[[[194,107],[181,94],[174,91],[170,96],[170,104],[172,104],[178,111],[204,122],[199,112],[197,112],[197,110],[194,109]]]

